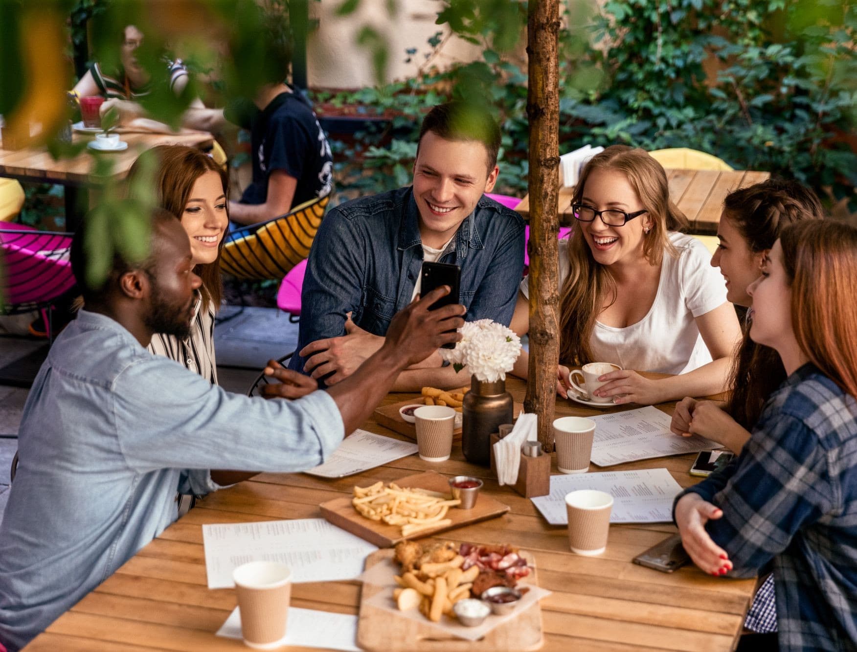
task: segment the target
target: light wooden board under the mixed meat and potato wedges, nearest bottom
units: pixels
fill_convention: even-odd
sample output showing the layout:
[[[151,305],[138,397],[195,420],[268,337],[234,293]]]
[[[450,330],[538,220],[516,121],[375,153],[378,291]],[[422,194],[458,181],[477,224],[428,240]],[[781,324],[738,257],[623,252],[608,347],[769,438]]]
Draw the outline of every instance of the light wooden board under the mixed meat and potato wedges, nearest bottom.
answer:
[[[393,550],[379,550],[366,558],[366,569],[375,564],[393,558]],[[532,556],[523,553],[532,567],[530,577],[525,583],[537,584],[536,567]],[[524,582],[518,586],[525,585]],[[367,604],[370,598],[390,591],[393,587],[363,583],[360,594],[360,615],[357,621],[357,645],[361,649],[378,650],[414,650],[415,652],[464,652],[464,650],[535,650],[542,647],[542,608],[538,601],[522,613],[502,625],[489,631],[478,641],[468,641],[446,633],[418,620],[399,617],[385,609]]]

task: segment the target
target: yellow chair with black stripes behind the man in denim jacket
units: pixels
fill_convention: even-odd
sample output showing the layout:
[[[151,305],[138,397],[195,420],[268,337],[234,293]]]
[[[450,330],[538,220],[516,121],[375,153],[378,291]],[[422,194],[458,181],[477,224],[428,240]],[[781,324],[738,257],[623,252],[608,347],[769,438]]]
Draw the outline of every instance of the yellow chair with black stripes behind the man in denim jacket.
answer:
[[[279,218],[232,231],[220,256],[220,268],[236,278],[283,278],[309,256],[330,195],[308,201]]]

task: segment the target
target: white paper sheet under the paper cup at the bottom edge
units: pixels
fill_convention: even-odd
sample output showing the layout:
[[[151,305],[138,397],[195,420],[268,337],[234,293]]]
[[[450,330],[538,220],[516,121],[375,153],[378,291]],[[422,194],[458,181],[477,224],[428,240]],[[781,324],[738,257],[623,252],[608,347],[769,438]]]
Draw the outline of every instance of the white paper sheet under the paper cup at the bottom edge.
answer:
[[[344,649],[348,652],[360,650],[357,647],[357,616],[289,607],[287,623],[283,645]],[[217,636],[241,640],[241,612],[238,607],[221,625]]]

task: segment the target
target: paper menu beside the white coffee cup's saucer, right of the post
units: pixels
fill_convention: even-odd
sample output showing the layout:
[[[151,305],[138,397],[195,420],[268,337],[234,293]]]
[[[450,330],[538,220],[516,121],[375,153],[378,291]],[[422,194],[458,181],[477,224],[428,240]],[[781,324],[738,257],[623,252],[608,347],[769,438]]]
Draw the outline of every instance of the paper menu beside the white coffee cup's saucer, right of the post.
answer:
[[[716,441],[697,434],[680,437],[672,433],[669,430],[672,417],[651,405],[587,418],[596,422],[590,459],[598,466],[720,448]]]

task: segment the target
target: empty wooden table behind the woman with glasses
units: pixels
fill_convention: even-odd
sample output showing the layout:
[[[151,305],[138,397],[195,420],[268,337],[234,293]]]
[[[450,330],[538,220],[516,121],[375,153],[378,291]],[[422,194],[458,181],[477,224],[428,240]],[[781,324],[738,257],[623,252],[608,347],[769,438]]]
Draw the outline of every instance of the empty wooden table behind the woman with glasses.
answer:
[[[690,231],[699,234],[715,234],[720,222],[723,200],[726,195],[770,178],[770,172],[752,170],[667,170],[669,197],[690,221]],[[557,214],[560,224],[571,224],[572,193],[574,188],[560,188]],[[530,218],[530,195],[515,207],[525,219]]]

